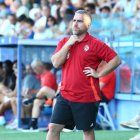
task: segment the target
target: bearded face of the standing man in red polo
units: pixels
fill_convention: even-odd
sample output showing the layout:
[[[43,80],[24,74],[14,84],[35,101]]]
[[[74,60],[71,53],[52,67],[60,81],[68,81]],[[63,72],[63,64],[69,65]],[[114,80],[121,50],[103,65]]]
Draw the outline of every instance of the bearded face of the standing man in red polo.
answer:
[[[86,24],[85,15],[76,13],[73,18],[72,32],[74,35],[81,35],[87,32],[88,26]]]

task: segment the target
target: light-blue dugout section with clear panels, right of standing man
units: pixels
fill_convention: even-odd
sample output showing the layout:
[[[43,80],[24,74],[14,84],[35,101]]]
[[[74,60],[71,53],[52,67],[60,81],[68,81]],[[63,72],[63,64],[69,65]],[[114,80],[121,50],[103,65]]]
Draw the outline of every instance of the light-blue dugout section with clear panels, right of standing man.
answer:
[[[122,59],[117,69],[114,122],[117,129],[124,129],[120,122],[132,118],[140,102],[140,41],[117,40],[112,45]]]

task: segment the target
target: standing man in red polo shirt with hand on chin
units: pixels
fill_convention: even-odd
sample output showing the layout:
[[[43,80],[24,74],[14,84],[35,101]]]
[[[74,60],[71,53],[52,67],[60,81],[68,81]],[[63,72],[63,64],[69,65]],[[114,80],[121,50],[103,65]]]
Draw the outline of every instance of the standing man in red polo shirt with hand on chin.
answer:
[[[52,56],[54,67],[62,67],[61,94],[53,110],[46,140],[59,140],[61,130],[76,125],[85,140],[94,140],[100,88],[98,78],[113,71],[121,60],[107,45],[87,33],[91,17],[85,10],[75,12],[72,32],[62,39]],[[99,73],[102,60],[108,62]]]

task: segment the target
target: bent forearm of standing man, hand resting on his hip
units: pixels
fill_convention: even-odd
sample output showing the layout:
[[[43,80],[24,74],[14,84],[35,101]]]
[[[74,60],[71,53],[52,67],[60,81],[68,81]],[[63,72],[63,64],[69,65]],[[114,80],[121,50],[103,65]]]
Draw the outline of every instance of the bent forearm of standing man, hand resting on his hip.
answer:
[[[112,60],[110,60],[106,66],[100,71],[97,72],[95,69],[92,69],[91,67],[85,67],[84,73],[87,76],[92,76],[94,78],[100,78],[102,76],[105,76],[115,70],[119,65],[121,64],[121,59],[118,56],[115,56]]]

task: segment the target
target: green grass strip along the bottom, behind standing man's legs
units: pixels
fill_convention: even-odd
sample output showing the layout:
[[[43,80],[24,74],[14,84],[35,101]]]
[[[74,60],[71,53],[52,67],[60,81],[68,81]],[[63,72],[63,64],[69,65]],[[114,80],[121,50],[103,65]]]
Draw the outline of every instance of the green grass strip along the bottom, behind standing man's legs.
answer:
[[[138,131],[95,131],[96,140],[129,140]],[[46,132],[19,132],[0,127],[0,140],[45,140]],[[61,133],[61,140],[82,140],[82,132]]]

